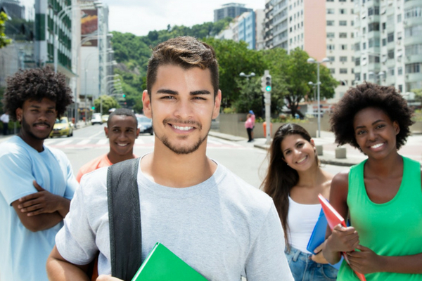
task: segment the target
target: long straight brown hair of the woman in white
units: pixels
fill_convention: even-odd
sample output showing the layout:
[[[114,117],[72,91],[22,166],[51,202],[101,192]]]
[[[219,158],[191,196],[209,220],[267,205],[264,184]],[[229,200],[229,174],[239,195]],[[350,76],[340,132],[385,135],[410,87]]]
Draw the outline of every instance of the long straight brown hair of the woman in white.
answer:
[[[293,186],[298,184],[299,174],[298,171],[292,169],[284,161],[283,152],[281,151],[281,143],[286,136],[300,135],[309,143],[311,142],[311,136],[309,133],[300,125],[288,123],[280,126],[277,129],[274,140],[271,143],[268,151],[269,166],[267,175],[262,182],[261,188],[266,192],[273,200],[276,205],[277,212],[279,213],[281,226],[284,230],[284,240],[286,242],[286,248],[290,249],[288,243],[288,196]],[[316,162],[318,157],[315,155]]]

